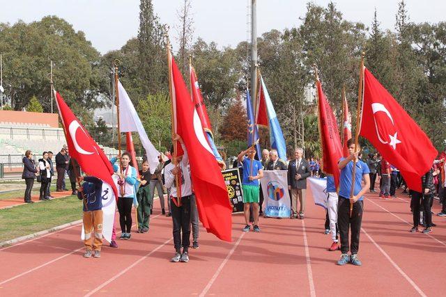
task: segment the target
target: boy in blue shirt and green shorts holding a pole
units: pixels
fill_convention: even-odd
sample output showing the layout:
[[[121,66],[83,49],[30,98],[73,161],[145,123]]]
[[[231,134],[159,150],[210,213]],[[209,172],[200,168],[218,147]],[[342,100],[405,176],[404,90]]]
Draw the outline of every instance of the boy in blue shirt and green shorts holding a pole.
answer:
[[[247,157],[245,156],[247,154]],[[254,212],[254,232],[260,232],[259,228],[259,179],[263,177],[263,166],[261,161],[255,160],[256,149],[249,147],[238,154],[238,161],[243,165],[243,213],[245,214],[246,225],[244,232],[249,232],[249,206],[252,205]],[[251,168],[252,167],[252,168]]]

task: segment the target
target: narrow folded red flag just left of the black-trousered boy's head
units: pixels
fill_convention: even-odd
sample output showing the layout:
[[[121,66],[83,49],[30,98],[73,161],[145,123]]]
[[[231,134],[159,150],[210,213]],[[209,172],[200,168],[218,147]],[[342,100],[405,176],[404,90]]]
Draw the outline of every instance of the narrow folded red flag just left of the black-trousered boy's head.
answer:
[[[333,175],[336,188],[339,186],[339,168],[337,163],[342,156],[341,138],[336,118],[322,90],[321,81],[316,79],[318,92],[318,124],[322,146],[322,170]]]

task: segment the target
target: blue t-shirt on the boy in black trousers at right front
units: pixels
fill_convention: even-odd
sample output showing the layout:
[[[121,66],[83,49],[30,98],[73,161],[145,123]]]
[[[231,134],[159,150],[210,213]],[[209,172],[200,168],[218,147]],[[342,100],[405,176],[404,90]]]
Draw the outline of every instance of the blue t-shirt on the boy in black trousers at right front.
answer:
[[[339,159],[339,162],[344,160],[342,157]],[[361,160],[356,162],[356,170],[355,170],[355,190],[353,191],[353,195],[357,195],[361,191],[361,182],[362,175],[367,175],[370,173],[369,166]],[[351,191],[351,178],[353,176],[353,161],[348,162],[346,167],[341,170],[341,180],[339,182],[339,196],[350,199],[350,191]],[[364,196],[361,196],[358,200],[363,200]]]

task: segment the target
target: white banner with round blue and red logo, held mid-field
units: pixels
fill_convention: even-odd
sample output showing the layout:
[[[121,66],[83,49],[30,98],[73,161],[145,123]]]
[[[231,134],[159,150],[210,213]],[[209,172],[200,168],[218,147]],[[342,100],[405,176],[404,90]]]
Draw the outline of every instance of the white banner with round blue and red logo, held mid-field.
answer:
[[[291,200],[286,170],[263,170],[263,213],[272,218],[289,218]]]

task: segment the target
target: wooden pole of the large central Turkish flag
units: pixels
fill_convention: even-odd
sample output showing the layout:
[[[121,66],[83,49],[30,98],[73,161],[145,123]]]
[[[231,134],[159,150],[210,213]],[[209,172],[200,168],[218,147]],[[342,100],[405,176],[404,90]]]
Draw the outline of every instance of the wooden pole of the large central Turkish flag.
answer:
[[[178,150],[176,147],[175,140],[175,117],[174,117],[174,97],[172,92],[172,59],[171,59],[171,51],[170,51],[170,41],[169,41],[169,26],[164,28],[165,30],[165,38],[166,38],[166,49],[167,49],[167,65],[169,67],[169,97],[170,97],[170,118],[171,118],[171,138],[172,144],[174,146],[174,155],[172,156],[172,163],[174,166],[178,168],[178,159],[177,154]],[[172,197],[172,201],[176,204],[177,207],[181,206],[181,179],[179,175],[175,175],[175,184],[176,184],[176,199]]]

